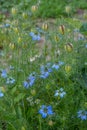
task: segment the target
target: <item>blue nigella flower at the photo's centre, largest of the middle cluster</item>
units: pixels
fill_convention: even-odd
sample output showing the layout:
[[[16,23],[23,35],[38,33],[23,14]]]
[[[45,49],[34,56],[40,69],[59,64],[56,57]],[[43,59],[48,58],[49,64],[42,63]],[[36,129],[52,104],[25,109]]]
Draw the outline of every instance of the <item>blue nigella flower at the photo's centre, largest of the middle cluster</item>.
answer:
[[[47,63],[47,65],[42,65],[41,68],[40,68],[40,71],[41,71],[41,75],[40,77],[45,79],[49,76],[50,72],[52,72],[52,68],[51,68],[51,64],[50,63]]]

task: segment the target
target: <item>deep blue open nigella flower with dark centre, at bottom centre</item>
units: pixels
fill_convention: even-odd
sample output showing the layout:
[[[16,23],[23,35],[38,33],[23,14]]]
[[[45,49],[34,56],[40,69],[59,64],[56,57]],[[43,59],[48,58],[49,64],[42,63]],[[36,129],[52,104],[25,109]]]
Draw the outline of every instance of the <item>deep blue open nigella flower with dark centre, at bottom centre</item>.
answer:
[[[42,105],[39,110],[39,114],[41,114],[42,118],[46,118],[48,115],[53,115],[54,112],[52,110],[52,106]]]

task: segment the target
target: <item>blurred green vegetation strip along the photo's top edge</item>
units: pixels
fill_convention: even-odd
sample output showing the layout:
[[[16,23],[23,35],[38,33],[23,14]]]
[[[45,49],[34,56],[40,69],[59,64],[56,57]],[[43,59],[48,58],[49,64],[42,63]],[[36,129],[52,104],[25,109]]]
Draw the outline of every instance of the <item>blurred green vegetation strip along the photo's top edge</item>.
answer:
[[[0,0],[0,15],[10,12],[12,7],[16,7],[19,13],[30,12],[33,5],[39,5],[38,17],[57,18],[61,15],[67,16],[65,7],[71,6],[71,13],[77,13],[78,10],[87,9],[87,0]],[[0,16],[2,17],[2,16]]]

